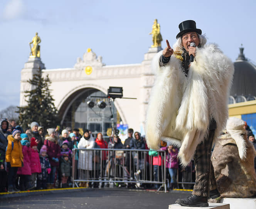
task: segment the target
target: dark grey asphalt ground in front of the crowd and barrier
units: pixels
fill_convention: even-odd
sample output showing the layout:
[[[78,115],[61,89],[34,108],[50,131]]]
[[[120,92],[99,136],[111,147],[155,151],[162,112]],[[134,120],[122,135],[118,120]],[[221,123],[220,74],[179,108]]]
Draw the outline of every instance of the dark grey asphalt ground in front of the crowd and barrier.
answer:
[[[167,209],[191,191],[150,191],[127,188],[47,189],[30,192],[1,193],[4,209]]]

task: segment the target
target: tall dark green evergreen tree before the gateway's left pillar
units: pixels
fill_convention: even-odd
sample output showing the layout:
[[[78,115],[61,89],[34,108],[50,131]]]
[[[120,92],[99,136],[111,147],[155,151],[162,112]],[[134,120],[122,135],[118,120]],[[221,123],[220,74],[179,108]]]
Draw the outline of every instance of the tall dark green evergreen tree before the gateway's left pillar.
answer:
[[[20,125],[27,128],[30,123],[37,121],[44,129],[55,128],[60,120],[51,96],[52,90],[49,89],[51,81],[48,75],[43,78],[39,70],[28,82],[32,90],[25,91],[27,106],[18,107]]]

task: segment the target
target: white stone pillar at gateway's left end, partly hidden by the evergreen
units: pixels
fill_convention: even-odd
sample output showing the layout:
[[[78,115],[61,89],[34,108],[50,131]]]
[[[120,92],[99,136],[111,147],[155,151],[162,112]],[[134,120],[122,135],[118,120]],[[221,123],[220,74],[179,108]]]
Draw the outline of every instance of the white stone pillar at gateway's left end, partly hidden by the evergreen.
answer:
[[[20,106],[27,105],[27,102],[25,101],[25,91],[30,91],[32,89],[32,86],[27,81],[32,79],[33,75],[42,69],[45,69],[45,66],[39,57],[30,57],[29,60],[25,63],[24,68],[21,70]]]

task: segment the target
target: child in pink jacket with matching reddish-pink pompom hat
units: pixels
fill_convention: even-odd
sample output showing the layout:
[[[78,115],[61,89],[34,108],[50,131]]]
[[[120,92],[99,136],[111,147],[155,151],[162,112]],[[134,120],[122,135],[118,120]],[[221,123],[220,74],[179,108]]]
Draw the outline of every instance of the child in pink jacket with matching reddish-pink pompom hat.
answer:
[[[31,158],[30,158],[31,185],[35,186],[35,181],[37,180],[37,174],[41,173],[41,164],[40,164],[39,154],[37,151],[37,143],[35,142],[34,137],[30,139],[30,147],[31,147]]]

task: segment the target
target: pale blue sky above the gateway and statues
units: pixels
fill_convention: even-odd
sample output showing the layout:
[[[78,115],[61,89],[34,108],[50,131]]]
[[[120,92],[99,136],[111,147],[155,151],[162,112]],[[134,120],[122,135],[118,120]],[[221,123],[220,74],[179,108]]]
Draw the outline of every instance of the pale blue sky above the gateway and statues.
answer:
[[[155,18],[171,45],[179,23],[191,19],[233,61],[242,43],[245,56],[256,62],[255,11],[255,0],[1,0],[0,110],[19,105],[20,71],[35,32],[47,69],[73,67],[87,48],[106,65],[141,63]]]

